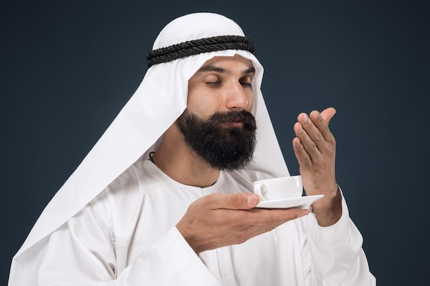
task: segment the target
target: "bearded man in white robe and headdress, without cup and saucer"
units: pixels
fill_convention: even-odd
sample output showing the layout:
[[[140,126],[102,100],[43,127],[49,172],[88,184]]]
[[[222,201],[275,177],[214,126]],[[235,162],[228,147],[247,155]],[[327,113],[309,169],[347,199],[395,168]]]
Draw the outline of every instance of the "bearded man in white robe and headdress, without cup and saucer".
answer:
[[[130,102],[45,208],[9,285],[375,285],[335,179],[333,108],[301,114],[293,147],[312,213],[255,208],[288,176],[233,21],[169,23]]]

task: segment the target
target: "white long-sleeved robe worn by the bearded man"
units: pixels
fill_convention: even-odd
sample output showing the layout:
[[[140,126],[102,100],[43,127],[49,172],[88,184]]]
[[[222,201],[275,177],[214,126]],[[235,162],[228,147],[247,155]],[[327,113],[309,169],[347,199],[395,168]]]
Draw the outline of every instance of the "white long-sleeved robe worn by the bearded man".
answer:
[[[198,257],[175,228],[188,206],[210,193],[252,191],[268,177],[221,172],[210,187],[190,187],[137,162],[41,241],[38,285],[376,285],[344,200],[333,226],[310,214]]]

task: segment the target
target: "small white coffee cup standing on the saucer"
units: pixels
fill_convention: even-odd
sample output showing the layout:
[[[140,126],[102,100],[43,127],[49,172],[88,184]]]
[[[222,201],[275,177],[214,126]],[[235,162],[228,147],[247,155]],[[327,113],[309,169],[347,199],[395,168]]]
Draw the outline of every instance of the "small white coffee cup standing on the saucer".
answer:
[[[290,176],[253,182],[254,193],[264,200],[282,200],[302,196],[302,176]]]

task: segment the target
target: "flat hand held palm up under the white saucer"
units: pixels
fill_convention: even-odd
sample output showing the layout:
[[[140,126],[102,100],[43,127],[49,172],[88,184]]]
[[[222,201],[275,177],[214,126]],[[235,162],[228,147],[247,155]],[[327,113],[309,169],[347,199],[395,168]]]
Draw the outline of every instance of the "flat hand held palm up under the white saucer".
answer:
[[[253,208],[257,204],[258,195],[253,193],[206,195],[190,204],[177,229],[194,252],[199,254],[205,250],[243,243],[309,213],[299,208]]]

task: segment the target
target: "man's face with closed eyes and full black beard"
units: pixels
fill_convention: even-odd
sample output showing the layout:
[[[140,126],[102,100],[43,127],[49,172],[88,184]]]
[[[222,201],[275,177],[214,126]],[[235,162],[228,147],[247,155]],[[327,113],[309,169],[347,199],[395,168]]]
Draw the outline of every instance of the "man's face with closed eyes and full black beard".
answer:
[[[241,56],[215,57],[188,82],[188,107],[176,124],[187,143],[214,169],[243,169],[256,146],[251,81],[254,69]]]

